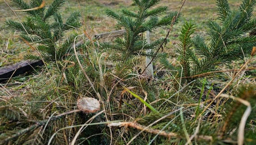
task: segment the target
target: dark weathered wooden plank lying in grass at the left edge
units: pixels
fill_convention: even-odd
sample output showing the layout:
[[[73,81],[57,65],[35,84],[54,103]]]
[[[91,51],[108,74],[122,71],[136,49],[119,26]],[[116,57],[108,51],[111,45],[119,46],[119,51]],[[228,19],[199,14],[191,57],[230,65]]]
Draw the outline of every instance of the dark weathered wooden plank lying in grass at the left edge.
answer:
[[[21,75],[26,73],[27,71],[33,70],[36,66],[43,66],[44,62],[42,60],[39,61],[23,61],[16,63],[11,66],[6,66],[0,68],[0,83],[10,79],[11,77],[15,77],[17,75]]]

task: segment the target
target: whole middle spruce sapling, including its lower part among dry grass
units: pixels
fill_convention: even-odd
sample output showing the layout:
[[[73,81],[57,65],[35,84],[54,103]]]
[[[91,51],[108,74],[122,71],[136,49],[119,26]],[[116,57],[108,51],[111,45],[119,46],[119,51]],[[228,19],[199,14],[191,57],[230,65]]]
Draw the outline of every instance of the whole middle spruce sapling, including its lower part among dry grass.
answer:
[[[137,7],[137,12],[132,12],[127,9],[122,9],[121,14],[115,13],[114,11],[107,9],[106,14],[110,18],[114,18],[117,21],[116,27],[125,30],[123,38],[116,38],[114,43],[103,42],[100,44],[100,48],[107,49],[111,51],[110,60],[115,64],[114,75],[118,79],[111,79],[115,84],[117,81],[118,87],[123,88],[123,86],[130,87],[133,86],[137,90],[134,91],[135,94],[145,96],[141,90],[145,90],[154,101],[155,91],[154,86],[150,86],[150,83],[146,78],[139,79],[137,77],[138,64],[140,64],[140,59],[138,56],[154,56],[154,52],[149,52],[148,50],[153,50],[159,48],[161,44],[165,41],[164,38],[156,39],[152,42],[147,42],[144,36],[146,31],[155,31],[161,26],[170,26],[173,22],[173,18],[177,16],[177,12],[168,12],[167,6],[156,6],[161,0],[133,0],[134,5]],[[168,12],[168,14],[166,14]],[[164,16],[162,16],[165,14]],[[162,17],[160,17],[162,16]],[[175,19],[178,21],[179,16]],[[141,36],[142,35],[142,36]],[[134,69],[135,68],[135,69]],[[110,80],[110,77],[106,75],[105,80]],[[110,86],[106,86],[110,88]],[[111,86],[112,87],[112,86]],[[116,89],[116,90],[115,90]],[[113,92],[120,91],[120,88],[115,87]],[[136,108],[136,106],[134,105]]]

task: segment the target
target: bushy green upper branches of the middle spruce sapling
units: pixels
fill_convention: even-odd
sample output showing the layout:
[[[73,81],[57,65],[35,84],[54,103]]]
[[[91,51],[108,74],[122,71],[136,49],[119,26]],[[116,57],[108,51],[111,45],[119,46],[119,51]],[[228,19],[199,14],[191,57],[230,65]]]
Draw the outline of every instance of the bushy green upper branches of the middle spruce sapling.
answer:
[[[140,34],[146,31],[154,31],[161,26],[172,24],[172,19],[177,15],[177,12],[171,12],[163,18],[160,15],[168,11],[167,6],[154,7],[160,0],[133,0],[138,7],[138,12],[123,9],[122,14],[117,14],[114,11],[107,9],[106,14],[110,18],[117,20],[117,28],[123,27],[125,30],[124,39],[116,38],[115,44],[104,42],[101,48],[108,48],[111,51],[121,53],[121,56],[116,58],[122,62],[128,61],[130,58],[140,56],[152,56],[153,53],[146,53],[146,50],[158,48],[164,39],[158,39],[152,43],[148,43]],[[176,19],[177,22],[177,19]]]

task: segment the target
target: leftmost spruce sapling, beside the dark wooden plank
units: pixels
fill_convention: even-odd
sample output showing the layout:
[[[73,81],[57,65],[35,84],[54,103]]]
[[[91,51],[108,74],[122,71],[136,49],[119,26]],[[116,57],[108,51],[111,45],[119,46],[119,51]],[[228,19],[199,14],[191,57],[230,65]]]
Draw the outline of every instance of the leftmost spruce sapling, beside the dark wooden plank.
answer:
[[[43,2],[42,0],[31,0],[29,4],[26,4],[22,0],[11,1],[20,9],[35,8]],[[7,20],[5,23],[9,28],[20,32],[22,41],[39,51],[40,56],[27,54],[26,59],[43,59],[44,61],[55,62],[56,66],[54,68],[60,74],[65,75],[64,83],[75,87],[80,85],[77,78],[82,76],[82,74],[79,74],[79,65],[74,55],[74,41],[78,34],[75,33],[65,37],[64,35],[67,31],[81,26],[79,21],[81,14],[72,12],[64,22],[59,12],[64,3],[65,0],[53,0],[48,9],[43,7],[24,11],[28,16],[22,22]],[[78,43],[75,44],[75,47],[77,50],[84,50],[88,45],[88,43]],[[81,56],[79,56],[79,59],[83,61]],[[63,78],[64,76],[60,82],[63,82]]]

